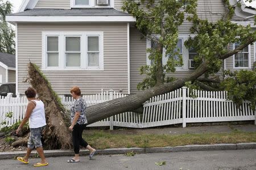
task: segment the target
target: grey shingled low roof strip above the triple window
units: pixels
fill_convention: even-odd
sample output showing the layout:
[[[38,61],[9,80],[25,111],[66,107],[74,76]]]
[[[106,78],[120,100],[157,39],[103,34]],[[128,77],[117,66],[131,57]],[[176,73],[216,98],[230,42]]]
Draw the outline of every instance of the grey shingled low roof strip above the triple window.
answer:
[[[131,16],[114,8],[32,9],[11,16]]]

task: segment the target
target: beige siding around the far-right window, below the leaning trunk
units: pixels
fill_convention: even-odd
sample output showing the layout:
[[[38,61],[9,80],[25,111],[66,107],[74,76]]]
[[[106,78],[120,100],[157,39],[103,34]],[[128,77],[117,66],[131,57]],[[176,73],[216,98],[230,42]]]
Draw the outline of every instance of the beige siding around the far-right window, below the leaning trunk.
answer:
[[[232,47],[230,48],[232,49]],[[254,45],[250,45],[250,69],[243,69],[243,70],[251,70],[253,69],[253,63],[254,63]],[[226,58],[226,70],[242,70],[242,69],[234,69],[234,57],[231,56],[229,58]]]

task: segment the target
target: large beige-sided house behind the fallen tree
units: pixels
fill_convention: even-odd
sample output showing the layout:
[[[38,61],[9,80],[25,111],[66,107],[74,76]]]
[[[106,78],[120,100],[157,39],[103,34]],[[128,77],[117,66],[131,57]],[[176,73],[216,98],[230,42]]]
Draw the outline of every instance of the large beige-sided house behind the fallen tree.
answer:
[[[137,84],[144,78],[138,69],[150,64],[146,48],[152,45],[141,39],[134,27],[135,18],[121,10],[122,2],[23,1],[18,13],[6,17],[16,26],[16,91],[23,94],[29,86],[23,80],[27,78],[27,63],[31,61],[41,67],[59,95],[69,94],[72,86],[81,87],[82,94],[96,94],[101,88],[137,93]],[[210,22],[216,22],[225,11],[222,0],[198,1],[199,16]],[[255,11],[245,7],[236,14],[239,14],[236,22],[253,23],[252,18],[246,17],[255,15]],[[178,46],[184,65],[169,74],[177,78],[193,71],[195,52],[184,46],[191,26],[192,23],[185,20],[179,27]],[[255,45],[238,56],[226,59],[224,68],[250,69],[255,61]]]

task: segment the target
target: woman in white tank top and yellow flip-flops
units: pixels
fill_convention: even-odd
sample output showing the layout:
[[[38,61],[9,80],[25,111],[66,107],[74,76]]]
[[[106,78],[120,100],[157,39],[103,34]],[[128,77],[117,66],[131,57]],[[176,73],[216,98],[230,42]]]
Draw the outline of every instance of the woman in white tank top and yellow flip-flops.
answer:
[[[16,134],[19,133],[23,125],[28,121],[30,127],[30,138],[27,142],[27,154],[24,157],[18,157],[17,159],[24,163],[28,164],[28,158],[33,148],[36,148],[38,154],[41,158],[41,162],[34,164],[35,167],[42,167],[48,165],[46,158],[44,157],[44,151],[41,141],[42,130],[46,126],[46,114],[44,113],[44,103],[36,99],[36,91],[32,87],[28,87],[25,91],[27,96],[28,104],[26,114],[16,130]]]

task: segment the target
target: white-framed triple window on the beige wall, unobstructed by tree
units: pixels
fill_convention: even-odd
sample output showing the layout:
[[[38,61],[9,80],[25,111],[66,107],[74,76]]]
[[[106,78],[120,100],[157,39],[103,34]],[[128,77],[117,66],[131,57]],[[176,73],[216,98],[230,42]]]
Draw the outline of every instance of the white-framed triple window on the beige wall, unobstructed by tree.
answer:
[[[42,69],[103,70],[103,32],[43,32]]]

